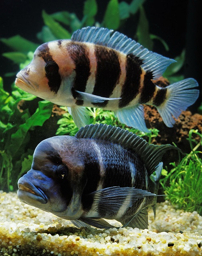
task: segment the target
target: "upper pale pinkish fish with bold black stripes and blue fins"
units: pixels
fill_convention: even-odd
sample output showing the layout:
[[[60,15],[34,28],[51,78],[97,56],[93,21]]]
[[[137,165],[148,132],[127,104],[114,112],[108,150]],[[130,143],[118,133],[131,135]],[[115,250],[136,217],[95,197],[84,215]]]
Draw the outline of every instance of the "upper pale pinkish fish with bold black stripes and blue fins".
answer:
[[[79,128],[89,124],[85,107],[98,107],[114,111],[127,126],[148,131],[142,104],[156,106],[164,123],[173,127],[174,118],[198,98],[199,91],[194,89],[198,83],[193,78],[158,86],[173,62],[123,34],[87,27],[74,32],[71,40],[38,47],[32,62],[17,74],[15,84],[67,106]]]

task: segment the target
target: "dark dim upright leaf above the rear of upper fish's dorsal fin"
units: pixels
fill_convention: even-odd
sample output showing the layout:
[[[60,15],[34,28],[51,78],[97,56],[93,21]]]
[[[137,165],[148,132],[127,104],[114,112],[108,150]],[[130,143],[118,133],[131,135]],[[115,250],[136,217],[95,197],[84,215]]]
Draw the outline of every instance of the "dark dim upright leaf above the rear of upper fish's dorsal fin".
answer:
[[[145,48],[152,50],[153,42],[149,35],[149,23],[145,15],[145,10],[143,6],[141,6],[139,10],[140,10],[140,17],[139,17],[139,22],[137,26],[138,42],[141,45],[143,45]]]

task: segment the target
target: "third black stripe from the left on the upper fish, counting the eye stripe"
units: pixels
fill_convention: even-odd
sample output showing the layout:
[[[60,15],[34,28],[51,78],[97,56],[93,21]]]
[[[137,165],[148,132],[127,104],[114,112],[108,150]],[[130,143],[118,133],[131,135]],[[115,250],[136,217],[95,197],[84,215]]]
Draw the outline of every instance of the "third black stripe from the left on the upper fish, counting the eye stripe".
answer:
[[[95,45],[95,56],[97,59],[97,72],[93,94],[108,98],[112,95],[121,74],[118,55],[113,49]],[[95,105],[104,107],[107,102],[96,103]]]

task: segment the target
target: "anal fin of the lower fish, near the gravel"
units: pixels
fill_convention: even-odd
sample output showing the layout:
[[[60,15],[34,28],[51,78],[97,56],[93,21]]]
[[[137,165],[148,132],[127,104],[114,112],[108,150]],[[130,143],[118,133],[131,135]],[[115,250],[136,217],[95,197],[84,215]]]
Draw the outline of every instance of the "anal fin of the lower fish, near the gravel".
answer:
[[[126,218],[122,221],[122,227],[130,226],[132,228],[145,229],[148,227],[148,212],[146,208],[141,209],[133,218]]]

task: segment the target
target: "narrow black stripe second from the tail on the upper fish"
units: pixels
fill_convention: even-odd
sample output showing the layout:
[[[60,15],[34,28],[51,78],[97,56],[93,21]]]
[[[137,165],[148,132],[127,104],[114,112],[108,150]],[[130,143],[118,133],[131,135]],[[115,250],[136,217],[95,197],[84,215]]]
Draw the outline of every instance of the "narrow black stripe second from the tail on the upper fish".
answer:
[[[151,100],[154,95],[156,85],[151,81],[153,74],[149,71],[146,72],[143,81],[143,89],[139,99],[139,104],[145,104]]]

